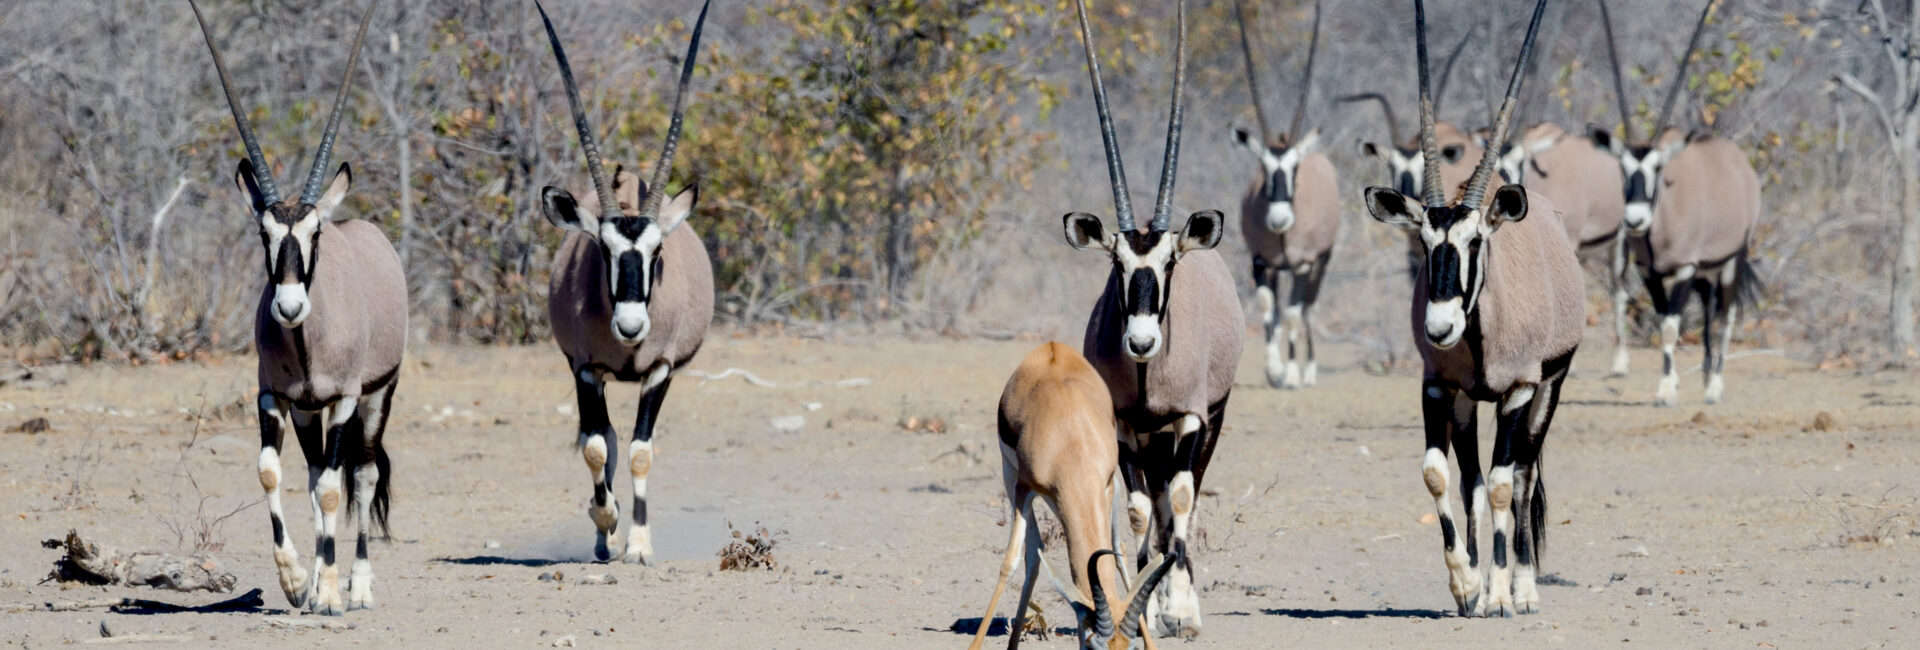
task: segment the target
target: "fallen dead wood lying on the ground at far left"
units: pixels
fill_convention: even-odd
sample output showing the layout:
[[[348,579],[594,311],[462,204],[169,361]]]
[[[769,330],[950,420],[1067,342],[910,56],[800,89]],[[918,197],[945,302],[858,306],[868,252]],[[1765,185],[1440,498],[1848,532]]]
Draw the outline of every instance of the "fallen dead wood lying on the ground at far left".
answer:
[[[146,585],[169,591],[211,591],[230,592],[234,575],[221,569],[219,560],[205,554],[175,556],[152,550],[123,552],[109,545],[96,545],[81,539],[79,531],[67,531],[67,539],[48,539],[46,548],[65,548],[67,554],[54,562],[54,571],[46,581],[86,583],[86,585]]]

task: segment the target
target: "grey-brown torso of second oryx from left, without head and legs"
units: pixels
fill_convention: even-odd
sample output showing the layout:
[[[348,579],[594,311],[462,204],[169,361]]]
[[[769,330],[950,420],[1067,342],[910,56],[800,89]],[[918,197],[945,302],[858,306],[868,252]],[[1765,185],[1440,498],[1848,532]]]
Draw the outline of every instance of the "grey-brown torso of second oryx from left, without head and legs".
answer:
[[[553,257],[547,318],[553,339],[578,374],[599,368],[622,382],[641,382],[659,362],[682,368],[699,353],[714,320],[714,274],[707,245],[693,226],[680,226],[660,244],[660,280],[653,290],[653,330],[639,345],[624,345],[607,324],[612,301],[607,291],[607,259],[599,244],[568,232]]]

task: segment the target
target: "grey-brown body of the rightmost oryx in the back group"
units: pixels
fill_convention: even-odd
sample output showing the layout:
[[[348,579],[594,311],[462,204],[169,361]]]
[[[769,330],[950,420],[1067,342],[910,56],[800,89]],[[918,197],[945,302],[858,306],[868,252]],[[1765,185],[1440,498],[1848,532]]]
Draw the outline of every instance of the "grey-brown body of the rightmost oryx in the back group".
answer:
[[[1686,144],[1661,173],[1653,203],[1655,270],[1722,261],[1747,245],[1761,219],[1761,178],[1747,153],[1724,138]]]

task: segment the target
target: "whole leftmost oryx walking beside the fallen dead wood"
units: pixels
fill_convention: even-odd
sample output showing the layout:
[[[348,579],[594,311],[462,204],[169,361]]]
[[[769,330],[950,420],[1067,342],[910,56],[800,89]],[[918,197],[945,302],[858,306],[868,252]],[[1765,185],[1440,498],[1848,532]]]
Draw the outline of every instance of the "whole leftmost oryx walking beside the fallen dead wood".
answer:
[[[240,186],[267,249],[267,286],[253,313],[253,345],[259,351],[259,487],[267,491],[280,591],[292,606],[315,614],[372,608],[367,539],[374,527],[386,529],[394,483],[382,435],[407,347],[407,276],[378,226],[346,221],[338,213],[353,173],[340,163],[328,182],[326,165],[374,4],[367,4],[348,50],[340,96],[326,115],[326,130],[321,132],[298,201],[280,197],[273,167],[253,138],[246,109],[234,98],[213,31],[200,13],[200,4],[188,4],[207,38],[207,52],[213,54],[234,128],[246,144],[248,157],[240,161],[234,184]],[[292,420],[300,451],[307,456],[307,497],[313,500],[315,529],[311,573],[300,566],[300,552],[294,550],[280,508],[280,445],[286,441],[282,420]],[[344,472],[353,472],[353,479],[346,481]],[[342,504],[355,516],[359,529],[344,604],[340,568],[334,562]]]

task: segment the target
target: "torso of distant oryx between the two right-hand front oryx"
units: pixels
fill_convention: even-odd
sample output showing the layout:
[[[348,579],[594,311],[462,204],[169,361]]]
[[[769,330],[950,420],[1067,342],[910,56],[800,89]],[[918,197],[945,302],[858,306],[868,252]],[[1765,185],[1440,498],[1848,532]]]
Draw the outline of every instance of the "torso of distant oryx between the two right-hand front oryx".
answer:
[[[1273,265],[1311,263],[1332,249],[1340,236],[1340,174],[1327,153],[1313,151],[1300,159],[1294,173],[1294,224],[1284,234],[1267,228],[1265,174],[1240,199],[1240,232],[1246,247]]]

